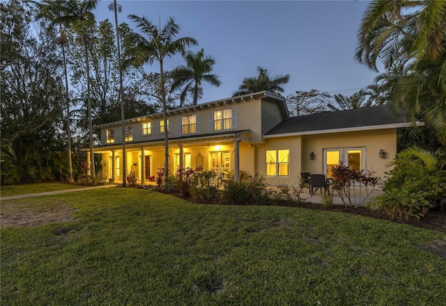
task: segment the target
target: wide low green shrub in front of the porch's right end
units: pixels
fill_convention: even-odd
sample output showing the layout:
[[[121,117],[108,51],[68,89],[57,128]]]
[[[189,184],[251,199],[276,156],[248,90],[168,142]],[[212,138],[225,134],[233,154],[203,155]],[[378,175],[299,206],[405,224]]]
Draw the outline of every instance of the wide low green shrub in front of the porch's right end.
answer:
[[[225,204],[262,205],[271,202],[265,179],[259,175],[247,177],[243,181],[228,181],[224,187],[222,200]]]

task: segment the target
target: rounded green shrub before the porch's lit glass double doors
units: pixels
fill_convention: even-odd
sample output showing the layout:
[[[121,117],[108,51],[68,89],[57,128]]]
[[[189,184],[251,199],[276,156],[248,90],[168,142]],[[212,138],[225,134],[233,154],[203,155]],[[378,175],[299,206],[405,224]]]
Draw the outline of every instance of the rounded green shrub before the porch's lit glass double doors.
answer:
[[[210,202],[220,198],[217,173],[210,170],[194,172],[190,179],[190,195],[197,202]]]

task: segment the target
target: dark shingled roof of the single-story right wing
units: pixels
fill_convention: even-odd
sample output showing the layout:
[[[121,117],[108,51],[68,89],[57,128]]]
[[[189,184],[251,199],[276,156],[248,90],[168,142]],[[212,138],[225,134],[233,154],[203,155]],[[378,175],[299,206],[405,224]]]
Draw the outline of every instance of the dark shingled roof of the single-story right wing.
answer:
[[[334,111],[292,117],[270,129],[266,135],[327,131],[330,129],[352,129],[356,127],[373,127],[386,124],[402,124],[404,121],[392,115],[387,106],[371,106],[348,111]]]

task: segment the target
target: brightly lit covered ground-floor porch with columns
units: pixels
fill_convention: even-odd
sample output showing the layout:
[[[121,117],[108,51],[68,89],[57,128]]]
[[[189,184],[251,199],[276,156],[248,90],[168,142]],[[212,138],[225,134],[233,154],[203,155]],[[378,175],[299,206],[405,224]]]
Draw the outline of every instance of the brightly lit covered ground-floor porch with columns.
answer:
[[[169,172],[178,169],[213,170],[240,179],[240,171],[254,174],[255,145],[249,143],[249,130],[230,131],[208,136],[181,137],[169,140]],[[165,168],[164,140],[153,142],[125,143],[125,168],[123,173],[123,150],[121,144],[95,147],[101,156],[102,174],[111,183],[120,184],[129,172],[138,177],[138,184],[153,184],[157,172]],[[87,152],[87,161],[90,161]],[[243,156],[246,156],[245,158]],[[90,164],[89,164],[90,166]]]

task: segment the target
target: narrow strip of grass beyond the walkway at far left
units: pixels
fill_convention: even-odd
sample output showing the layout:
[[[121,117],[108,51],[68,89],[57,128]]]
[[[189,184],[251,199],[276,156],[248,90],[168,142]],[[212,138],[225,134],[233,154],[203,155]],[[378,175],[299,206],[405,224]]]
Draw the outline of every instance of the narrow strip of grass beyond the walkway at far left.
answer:
[[[66,189],[85,188],[87,186],[63,183],[40,183],[0,186],[0,196],[28,195],[30,193],[45,193],[47,191],[59,191]]]

